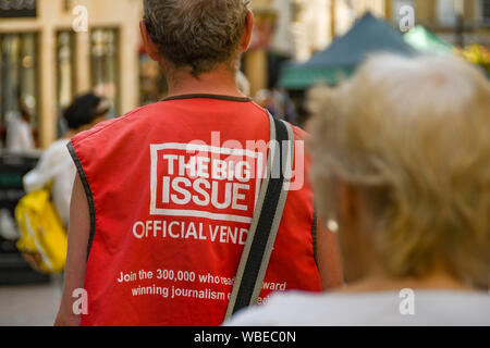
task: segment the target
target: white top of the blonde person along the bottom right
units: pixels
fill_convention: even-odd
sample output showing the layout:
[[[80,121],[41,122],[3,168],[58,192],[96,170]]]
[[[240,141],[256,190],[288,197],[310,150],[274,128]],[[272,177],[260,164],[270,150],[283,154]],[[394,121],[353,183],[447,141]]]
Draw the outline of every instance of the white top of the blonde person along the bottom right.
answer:
[[[226,326],[488,326],[490,294],[415,290],[372,294],[291,291],[238,312]],[[409,314],[413,309],[413,315]],[[405,315],[402,314],[405,313]],[[408,312],[408,313],[407,313]]]

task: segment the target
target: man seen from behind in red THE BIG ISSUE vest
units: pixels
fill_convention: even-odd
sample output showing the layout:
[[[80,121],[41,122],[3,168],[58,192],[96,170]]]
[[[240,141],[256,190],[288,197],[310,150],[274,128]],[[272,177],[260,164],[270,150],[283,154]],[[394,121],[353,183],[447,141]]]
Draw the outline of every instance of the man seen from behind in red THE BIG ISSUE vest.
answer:
[[[222,323],[260,184],[250,167],[261,167],[256,159],[267,149],[245,151],[247,162],[224,154],[270,139],[267,112],[236,82],[252,37],[248,3],[144,1],[143,41],[168,77],[169,98],[69,145],[78,175],[58,325]],[[203,151],[187,151],[189,144]],[[341,283],[333,238],[315,236],[313,201],[308,183],[289,192],[259,300]],[[331,257],[321,273],[315,240]],[[81,315],[77,288],[88,298]]]

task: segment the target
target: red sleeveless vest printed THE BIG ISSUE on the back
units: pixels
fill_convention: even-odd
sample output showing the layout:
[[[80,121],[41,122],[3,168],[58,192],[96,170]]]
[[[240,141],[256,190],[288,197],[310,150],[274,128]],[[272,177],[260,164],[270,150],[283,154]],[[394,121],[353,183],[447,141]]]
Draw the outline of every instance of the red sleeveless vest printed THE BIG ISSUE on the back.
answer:
[[[267,112],[216,96],[168,99],[72,140],[94,232],[83,325],[222,323],[267,159],[252,147],[260,140]],[[313,200],[306,179],[290,191],[259,302],[320,290]]]

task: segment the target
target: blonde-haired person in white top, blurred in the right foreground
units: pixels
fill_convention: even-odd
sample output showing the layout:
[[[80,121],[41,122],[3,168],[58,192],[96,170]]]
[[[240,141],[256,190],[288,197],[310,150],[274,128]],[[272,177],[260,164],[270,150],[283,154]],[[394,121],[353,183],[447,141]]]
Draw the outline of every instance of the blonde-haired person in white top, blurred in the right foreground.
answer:
[[[316,192],[348,286],[229,324],[490,325],[488,79],[456,58],[383,54],[315,97]]]

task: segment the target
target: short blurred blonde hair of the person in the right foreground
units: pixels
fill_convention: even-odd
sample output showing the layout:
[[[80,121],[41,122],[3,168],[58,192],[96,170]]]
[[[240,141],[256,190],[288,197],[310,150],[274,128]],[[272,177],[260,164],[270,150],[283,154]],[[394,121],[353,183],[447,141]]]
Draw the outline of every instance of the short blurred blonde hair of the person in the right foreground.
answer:
[[[365,197],[393,276],[436,262],[488,286],[490,83],[456,58],[370,58],[340,87],[311,94],[314,182],[323,214],[334,181]],[[376,236],[376,237],[375,237]]]

